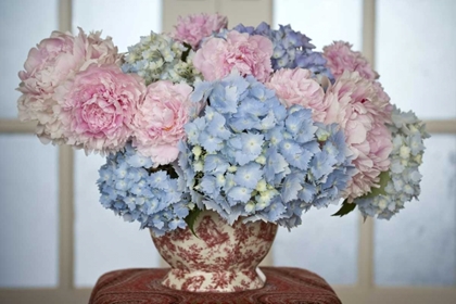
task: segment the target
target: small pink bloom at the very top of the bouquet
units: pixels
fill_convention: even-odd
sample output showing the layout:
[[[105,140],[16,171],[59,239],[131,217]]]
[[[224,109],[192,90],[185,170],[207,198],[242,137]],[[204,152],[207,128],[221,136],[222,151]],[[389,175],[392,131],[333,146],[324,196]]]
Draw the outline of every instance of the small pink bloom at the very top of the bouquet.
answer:
[[[178,41],[189,43],[193,49],[204,37],[227,28],[228,18],[219,14],[194,14],[186,17],[179,16],[176,29],[172,37]]]

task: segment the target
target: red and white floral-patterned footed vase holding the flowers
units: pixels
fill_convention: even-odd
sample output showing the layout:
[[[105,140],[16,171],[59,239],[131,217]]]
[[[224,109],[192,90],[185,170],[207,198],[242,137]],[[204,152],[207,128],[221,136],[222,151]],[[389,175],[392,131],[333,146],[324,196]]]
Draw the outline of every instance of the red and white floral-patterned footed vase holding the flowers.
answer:
[[[266,277],[258,264],[273,245],[277,225],[243,224],[229,226],[217,213],[204,211],[187,227],[152,240],[172,266],[162,284],[192,292],[235,292],[259,289]]]

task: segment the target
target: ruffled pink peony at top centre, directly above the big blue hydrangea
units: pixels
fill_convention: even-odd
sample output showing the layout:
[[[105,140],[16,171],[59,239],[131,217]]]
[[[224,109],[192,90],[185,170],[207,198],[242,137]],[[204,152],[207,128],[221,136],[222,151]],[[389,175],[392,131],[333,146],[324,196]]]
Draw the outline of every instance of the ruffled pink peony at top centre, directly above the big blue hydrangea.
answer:
[[[265,83],[273,72],[273,42],[263,36],[231,30],[227,38],[212,37],[204,41],[193,64],[206,80],[221,79],[237,69],[242,76],[253,75]]]

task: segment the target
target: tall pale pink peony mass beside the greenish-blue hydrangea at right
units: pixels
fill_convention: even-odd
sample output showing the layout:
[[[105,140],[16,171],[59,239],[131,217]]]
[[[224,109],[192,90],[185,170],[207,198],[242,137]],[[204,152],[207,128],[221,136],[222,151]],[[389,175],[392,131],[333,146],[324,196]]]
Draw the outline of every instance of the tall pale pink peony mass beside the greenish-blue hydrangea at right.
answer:
[[[324,123],[338,123],[344,130],[356,168],[345,192],[352,202],[378,187],[380,173],[389,169],[392,140],[385,123],[392,107],[381,86],[357,72],[342,74],[325,99],[329,107]]]

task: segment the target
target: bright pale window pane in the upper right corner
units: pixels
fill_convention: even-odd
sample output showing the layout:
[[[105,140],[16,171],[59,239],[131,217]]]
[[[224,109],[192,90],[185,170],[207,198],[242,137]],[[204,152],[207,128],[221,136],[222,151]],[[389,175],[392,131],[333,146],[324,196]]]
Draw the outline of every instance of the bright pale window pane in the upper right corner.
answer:
[[[378,0],[376,67],[392,101],[422,119],[456,118],[456,1]]]

